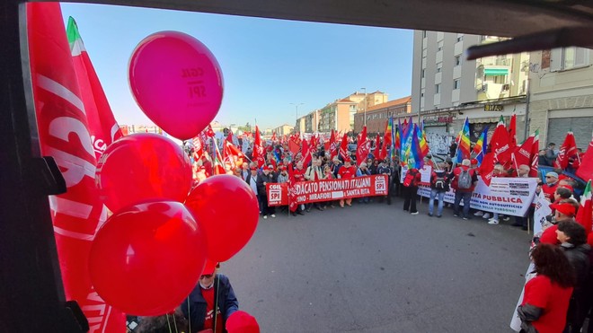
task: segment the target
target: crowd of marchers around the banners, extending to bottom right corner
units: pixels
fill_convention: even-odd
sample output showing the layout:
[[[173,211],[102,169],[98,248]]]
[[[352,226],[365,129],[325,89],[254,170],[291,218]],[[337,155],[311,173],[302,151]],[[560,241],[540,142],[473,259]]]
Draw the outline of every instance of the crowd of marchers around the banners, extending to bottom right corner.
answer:
[[[525,332],[580,332],[593,305],[593,254],[589,245],[593,243],[593,237],[575,221],[580,207],[577,201],[579,194],[575,189],[580,184],[577,180],[567,177],[563,170],[550,168],[554,165],[557,155],[554,146],[550,144],[539,153],[540,164],[548,166],[550,171],[545,172],[544,180],[538,180],[535,192],[543,192],[544,197],[551,203],[553,213],[547,217],[543,232],[535,234],[533,248],[530,251],[530,259],[535,265],[534,271],[531,272],[534,277],[527,282],[525,297],[518,307],[518,315]],[[276,207],[268,206],[268,183],[288,182],[290,176],[296,181],[314,181],[349,179],[374,174],[386,174],[389,177],[389,195],[356,198],[354,201],[358,205],[366,205],[371,201],[391,205],[392,197],[401,197],[403,211],[410,215],[418,215],[418,188],[425,185],[430,188],[426,212],[429,216],[442,217],[445,208],[450,206],[451,215],[464,220],[482,217],[489,224],[499,224],[500,221],[509,221],[511,218],[497,212],[478,211],[470,207],[480,177],[480,168],[474,158],[464,159],[456,165],[450,156],[443,162],[434,162],[430,155],[425,156],[424,164],[431,167],[427,184],[422,182],[419,170],[403,169],[397,156],[382,160],[369,153],[364,162],[357,162],[354,160],[355,153],[330,156],[323,150],[323,145],[318,145],[317,148],[311,153],[310,159],[305,159],[300,153],[289,153],[287,146],[272,146],[266,152],[263,166],[257,162],[243,162],[241,168],[227,169],[226,172],[241,177],[249,184],[259,198],[263,219],[275,218],[277,214]],[[451,153],[455,151],[456,147],[452,147]],[[281,156],[281,159],[278,159],[278,156]],[[249,154],[246,156],[247,159],[251,157]],[[579,168],[580,160],[571,158],[566,171]],[[206,172],[204,169],[202,167],[199,172]],[[290,175],[289,170],[293,172]],[[508,170],[504,165],[497,163],[492,177],[527,178],[530,170],[531,167],[525,164]],[[404,171],[405,174],[402,175]],[[455,189],[455,200],[447,204],[444,198],[449,188]],[[349,207],[353,205],[352,201],[353,199],[341,199],[299,205],[291,214],[297,216],[310,213],[312,209],[323,211],[338,206]],[[513,216],[514,221],[511,225],[524,230],[533,228],[534,206],[532,205],[524,216]],[[279,209],[289,212],[288,207]],[[589,333],[593,333],[593,325],[589,325]]]

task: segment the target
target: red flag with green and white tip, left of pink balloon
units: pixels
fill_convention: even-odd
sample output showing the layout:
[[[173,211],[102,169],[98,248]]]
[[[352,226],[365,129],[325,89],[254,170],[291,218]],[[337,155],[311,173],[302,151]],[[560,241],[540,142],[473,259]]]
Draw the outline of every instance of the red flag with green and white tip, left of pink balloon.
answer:
[[[107,146],[123,136],[123,133],[113,117],[99,77],[94,71],[91,58],[84,48],[83,39],[80,37],[76,22],[72,17],[68,19],[66,33],[72,51],[78,88],[84,103],[86,120],[93,140],[93,149],[99,159]]]

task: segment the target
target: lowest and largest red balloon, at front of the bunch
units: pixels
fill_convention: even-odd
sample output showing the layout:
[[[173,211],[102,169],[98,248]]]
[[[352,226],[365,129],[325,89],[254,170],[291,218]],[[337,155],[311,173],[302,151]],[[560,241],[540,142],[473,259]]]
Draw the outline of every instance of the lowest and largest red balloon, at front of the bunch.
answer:
[[[194,217],[173,201],[128,206],[97,232],[89,256],[94,289],[120,311],[173,311],[206,263],[206,240]]]

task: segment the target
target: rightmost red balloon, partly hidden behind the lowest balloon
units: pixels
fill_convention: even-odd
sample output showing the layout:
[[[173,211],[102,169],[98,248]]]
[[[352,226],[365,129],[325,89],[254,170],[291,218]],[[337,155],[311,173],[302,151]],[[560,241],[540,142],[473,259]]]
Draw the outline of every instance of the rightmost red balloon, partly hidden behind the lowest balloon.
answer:
[[[226,261],[252,238],[259,220],[257,197],[239,177],[219,175],[199,182],[185,200],[206,234],[208,259]]]

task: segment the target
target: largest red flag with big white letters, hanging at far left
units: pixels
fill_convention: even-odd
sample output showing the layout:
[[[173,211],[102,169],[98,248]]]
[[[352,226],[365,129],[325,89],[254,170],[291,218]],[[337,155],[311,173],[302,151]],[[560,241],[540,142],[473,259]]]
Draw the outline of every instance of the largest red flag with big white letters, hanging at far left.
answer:
[[[79,90],[59,4],[26,8],[41,153],[54,157],[66,180],[66,193],[49,197],[66,299],[78,302],[90,331],[123,333],[124,314],[99,297],[88,273],[95,232],[107,217],[95,187],[96,155],[85,114],[84,101],[93,99]]]

